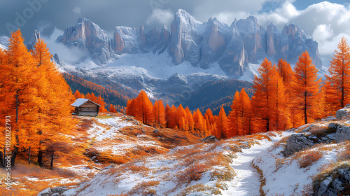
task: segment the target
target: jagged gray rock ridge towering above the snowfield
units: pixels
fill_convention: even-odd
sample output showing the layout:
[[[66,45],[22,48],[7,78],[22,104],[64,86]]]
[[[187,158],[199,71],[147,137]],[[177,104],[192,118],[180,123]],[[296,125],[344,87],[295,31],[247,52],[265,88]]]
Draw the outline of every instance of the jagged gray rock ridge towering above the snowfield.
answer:
[[[316,67],[322,69],[318,44],[305,31],[293,24],[279,31],[272,23],[265,30],[253,16],[235,20],[228,26],[217,18],[199,22],[180,9],[170,31],[166,26],[161,31],[155,28],[147,33],[143,25],[139,29],[118,26],[113,38],[90,20],[79,18],[75,26],[64,30],[57,42],[90,51],[97,64],[118,59],[122,54],[162,54],[167,50],[174,64],[189,62],[208,69],[218,62],[228,76],[238,78],[248,69],[248,63],[259,64],[267,57],[273,62],[283,58],[295,64],[298,55],[307,50]]]

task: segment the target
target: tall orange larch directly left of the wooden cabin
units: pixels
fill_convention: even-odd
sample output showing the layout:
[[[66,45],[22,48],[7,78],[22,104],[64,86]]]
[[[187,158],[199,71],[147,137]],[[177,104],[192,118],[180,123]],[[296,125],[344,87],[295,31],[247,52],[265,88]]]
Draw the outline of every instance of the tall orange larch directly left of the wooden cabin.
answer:
[[[43,100],[41,104],[45,104],[45,106],[38,106],[38,117],[42,126],[38,128],[36,134],[36,138],[40,138],[38,146],[42,147],[39,149],[38,163],[41,167],[43,166],[40,153],[43,149],[50,148],[46,151],[50,152],[50,169],[52,169],[57,144],[65,141],[65,135],[71,132],[76,125],[76,120],[71,118],[71,103],[74,97],[62,74],[59,73],[56,65],[51,62],[52,55],[43,40],[38,40],[34,45],[32,55],[36,66],[38,66],[38,75],[41,76],[38,94]],[[45,118],[45,116],[48,116],[48,118]]]

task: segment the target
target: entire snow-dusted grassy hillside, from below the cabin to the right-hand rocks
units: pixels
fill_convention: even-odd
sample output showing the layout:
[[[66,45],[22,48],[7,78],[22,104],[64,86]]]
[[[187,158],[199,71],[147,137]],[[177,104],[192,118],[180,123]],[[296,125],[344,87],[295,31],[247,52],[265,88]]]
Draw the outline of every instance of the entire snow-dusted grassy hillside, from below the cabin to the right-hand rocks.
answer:
[[[36,195],[66,186],[59,188],[65,196],[346,195],[349,108],[297,129],[209,143],[179,130],[155,130],[120,113],[79,117],[66,144],[72,153],[58,157],[64,164],[53,171],[19,164],[13,193]]]

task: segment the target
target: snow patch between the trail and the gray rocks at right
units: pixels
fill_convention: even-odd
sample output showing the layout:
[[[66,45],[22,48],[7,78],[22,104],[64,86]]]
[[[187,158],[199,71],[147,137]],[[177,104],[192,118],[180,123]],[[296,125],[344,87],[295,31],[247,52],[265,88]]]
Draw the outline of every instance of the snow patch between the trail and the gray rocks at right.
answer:
[[[289,158],[283,156],[283,145],[277,148],[268,148],[254,159],[254,164],[262,169],[266,179],[263,190],[266,195],[306,195],[311,190],[313,176],[322,171],[322,168],[336,162],[337,154],[344,151],[340,144],[326,144],[307,151],[318,151],[323,154],[320,160],[310,166],[301,168],[302,155],[295,153]]]

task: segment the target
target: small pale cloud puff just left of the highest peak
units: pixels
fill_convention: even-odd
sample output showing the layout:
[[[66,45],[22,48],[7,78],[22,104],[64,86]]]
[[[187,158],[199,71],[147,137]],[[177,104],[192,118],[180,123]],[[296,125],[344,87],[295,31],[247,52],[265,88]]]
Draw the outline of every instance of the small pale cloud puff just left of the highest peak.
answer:
[[[160,24],[167,25],[174,19],[172,10],[154,9],[146,20],[146,25]]]

